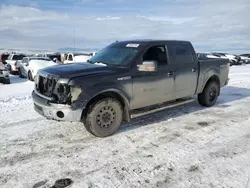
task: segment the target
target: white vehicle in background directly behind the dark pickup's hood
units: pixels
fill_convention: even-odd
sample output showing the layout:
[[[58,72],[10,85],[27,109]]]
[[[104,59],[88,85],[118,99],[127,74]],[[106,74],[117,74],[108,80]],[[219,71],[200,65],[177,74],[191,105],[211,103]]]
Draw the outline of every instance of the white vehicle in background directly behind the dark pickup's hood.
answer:
[[[77,63],[77,62],[87,62],[95,53],[68,53],[65,54],[64,64],[67,63]]]

